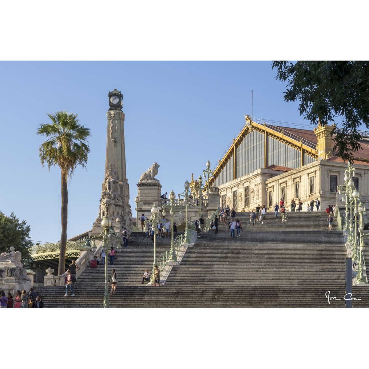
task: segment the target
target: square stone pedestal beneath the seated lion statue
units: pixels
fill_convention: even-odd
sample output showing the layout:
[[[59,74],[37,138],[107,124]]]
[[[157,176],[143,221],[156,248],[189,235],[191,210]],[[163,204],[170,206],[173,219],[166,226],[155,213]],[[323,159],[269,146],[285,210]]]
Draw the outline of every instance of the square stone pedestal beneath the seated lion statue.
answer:
[[[160,191],[162,185],[157,180],[150,180],[138,182],[137,187],[139,199],[137,206],[138,216],[144,213],[146,217],[150,218],[151,208],[154,203],[161,209]]]

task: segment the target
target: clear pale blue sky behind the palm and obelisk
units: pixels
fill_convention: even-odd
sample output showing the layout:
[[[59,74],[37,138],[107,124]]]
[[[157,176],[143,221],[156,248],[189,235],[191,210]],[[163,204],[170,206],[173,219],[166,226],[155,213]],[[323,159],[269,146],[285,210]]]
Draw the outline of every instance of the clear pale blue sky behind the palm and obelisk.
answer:
[[[36,135],[47,113],[68,110],[91,129],[87,171],[69,183],[68,238],[92,228],[105,174],[108,92],[124,96],[125,150],[130,204],[137,182],[153,162],[162,192],[183,191],[218,159],[244,126],[244,114],[295,124],[297,104],[283,100],[284,83],[270,61],[246,62],[0,62],[1,156],[5,194],[1,211],[31,226],[34,241],[61,234],[61,172],[42,169]]]

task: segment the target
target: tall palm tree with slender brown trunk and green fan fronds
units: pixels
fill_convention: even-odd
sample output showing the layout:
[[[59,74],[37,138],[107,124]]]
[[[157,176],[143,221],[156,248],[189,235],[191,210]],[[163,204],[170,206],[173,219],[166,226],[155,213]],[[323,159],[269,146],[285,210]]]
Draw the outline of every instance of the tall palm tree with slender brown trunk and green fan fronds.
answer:
[[[58,165],[62,170],[62,235],[60,238],[60,256],[58,275],[65,272],[65,251],[67,243],[68,224],[68,177],[72,179],[78,165],[86,167],[87,155],[90,151],[87,137],[90,129],[78,124],[77,114],[68,111],[58,111],[48,114],[52,124],[40,124],[38,135],[44,135],[47,140],[40,146],[42,167],[45,162],[49,170],[52,165]]]

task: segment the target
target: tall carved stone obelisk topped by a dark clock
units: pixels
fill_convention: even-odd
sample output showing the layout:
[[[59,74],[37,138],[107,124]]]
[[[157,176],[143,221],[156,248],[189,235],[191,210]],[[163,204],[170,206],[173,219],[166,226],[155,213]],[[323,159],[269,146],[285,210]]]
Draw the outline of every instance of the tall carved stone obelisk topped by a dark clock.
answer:
[[[130,187],[125,166],[123,96],[115,89],[109,92],[106,139],[105,176],[102,185],[99,215],[92,233],[101,232],[104,215],[113,222],[114,231],[121,234],[123,227],[132,232],[132,211],[129,204]]]

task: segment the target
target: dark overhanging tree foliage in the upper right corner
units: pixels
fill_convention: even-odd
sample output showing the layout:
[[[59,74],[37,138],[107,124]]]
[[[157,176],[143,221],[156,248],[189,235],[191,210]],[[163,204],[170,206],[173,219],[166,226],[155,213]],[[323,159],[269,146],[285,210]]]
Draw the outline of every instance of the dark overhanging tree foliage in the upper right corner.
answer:
[[[299,100],[304,119],[315,125],[341,123],[332,131],[333,151],[352,160],[352,153],[361,147],[360,126],[369,128],[369,62],[274,61],[274,68],[276,79],[287,81],[284,100]]]

